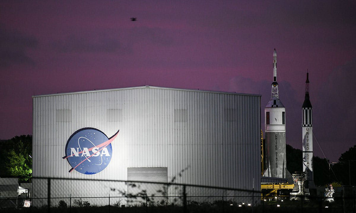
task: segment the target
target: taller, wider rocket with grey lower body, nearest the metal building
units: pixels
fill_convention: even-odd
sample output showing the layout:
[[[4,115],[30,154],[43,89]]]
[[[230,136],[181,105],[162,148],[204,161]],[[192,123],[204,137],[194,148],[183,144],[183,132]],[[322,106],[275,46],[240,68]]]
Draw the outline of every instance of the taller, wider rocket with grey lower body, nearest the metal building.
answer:
[[[286,108],[278,97],[277,51],[273,51],[271,99],[265,107],[266,170],[263,176],[292,179],[286,164]]]

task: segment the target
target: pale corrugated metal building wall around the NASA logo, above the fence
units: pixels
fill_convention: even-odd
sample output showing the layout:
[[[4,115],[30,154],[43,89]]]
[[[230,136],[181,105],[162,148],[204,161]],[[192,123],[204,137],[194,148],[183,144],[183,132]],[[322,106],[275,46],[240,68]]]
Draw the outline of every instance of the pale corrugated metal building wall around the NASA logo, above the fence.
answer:
[[[35,96],[33,176],[127,180],[130,167],[167,167],[171,180],[186,168],[176,182],[259,189],[260,124],[259,95],[135,87]],[[62,159],[84,127],[108,137],[120,130],[98,174],[69,173]],[[44,193],[36,187],[34,195]],[[79,192],[62,187],[58,194]]]

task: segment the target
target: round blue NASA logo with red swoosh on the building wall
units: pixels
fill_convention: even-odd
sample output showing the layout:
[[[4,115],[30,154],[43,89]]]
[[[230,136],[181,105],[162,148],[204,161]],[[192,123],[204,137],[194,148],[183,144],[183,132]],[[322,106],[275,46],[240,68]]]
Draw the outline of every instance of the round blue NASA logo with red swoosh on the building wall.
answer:
[[[86,175],[103,171],[109,165],[112,156],[111,142],[119,131],[108,138],[104,132],[95,128],[83,128],[75,131],[68,139],[66,156],[72,169]]]

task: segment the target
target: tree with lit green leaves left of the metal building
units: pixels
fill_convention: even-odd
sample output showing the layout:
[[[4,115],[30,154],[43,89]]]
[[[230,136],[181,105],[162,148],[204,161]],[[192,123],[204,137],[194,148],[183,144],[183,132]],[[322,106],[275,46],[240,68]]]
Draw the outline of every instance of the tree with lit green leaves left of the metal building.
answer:
[[[32,177],[32,136],[15,136],[2,144],[5,176],[27,181]]]

